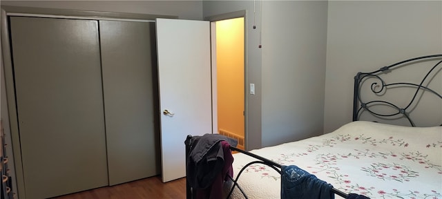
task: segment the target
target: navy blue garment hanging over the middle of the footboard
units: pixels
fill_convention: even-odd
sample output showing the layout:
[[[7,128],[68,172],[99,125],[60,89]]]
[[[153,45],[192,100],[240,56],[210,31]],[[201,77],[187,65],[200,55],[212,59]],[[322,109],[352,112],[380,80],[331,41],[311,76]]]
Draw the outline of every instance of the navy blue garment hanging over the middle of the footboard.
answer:
[[[333,199],[333,186],[296,167],[281,168],[281,198]]]

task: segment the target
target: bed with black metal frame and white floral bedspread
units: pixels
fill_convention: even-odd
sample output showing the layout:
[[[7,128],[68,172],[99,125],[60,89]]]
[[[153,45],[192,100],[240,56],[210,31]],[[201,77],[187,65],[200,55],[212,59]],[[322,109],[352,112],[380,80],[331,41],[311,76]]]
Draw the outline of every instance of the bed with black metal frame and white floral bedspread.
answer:
[[[434,107],[439,107],[436,114],[442,115],[442,88],[437,84],[430,88],[431,81],[441,81],[441,62],[442,55],[429,55],[357,73],[353,122],[331,133],[252,151],[230,146],[239,153],[233,154],[234,172],[230,180],[224,179],[222,198],[280,198],[283,165],[296,165],[331,184],[336,198],[347,198],[350,193],[367,198],[442,198],[442,122],[416,127],[420,124],[413,118],[417,104],[434,99]],[[425,63],[430,65],[417,83],[387,83],[383,77],[392,75],[394,68]],[[410,90],[410,97],[399,98],[408,101],[384,99],[386,93],[403,88]],[[399,92],[394,95],[407,96]],[[368,121],[359,121],[361,117]],[[392,122],[396,120],[402,121]],[[192,149],[192,139],[189,135],[186,140],[186,154]],[[189,183],[187,191],[187,198],[195,198]]]

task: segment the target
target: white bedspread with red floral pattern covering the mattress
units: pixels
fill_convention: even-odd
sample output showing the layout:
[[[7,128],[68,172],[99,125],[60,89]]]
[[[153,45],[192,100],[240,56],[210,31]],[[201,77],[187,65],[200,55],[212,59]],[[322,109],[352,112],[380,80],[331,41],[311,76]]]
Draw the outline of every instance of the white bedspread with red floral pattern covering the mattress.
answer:
[[[345,193],[369,198],[442,198],[442,127],[351,122],[332,133],[250,151],[297,165]],[[236,153],[233,171],[256,160]],[[280,175],[253,164],[238,183],[249,198],[280,198]],[[238,189],[232,198],[244,198]],[[336,195],[336,198],[340,196]]]

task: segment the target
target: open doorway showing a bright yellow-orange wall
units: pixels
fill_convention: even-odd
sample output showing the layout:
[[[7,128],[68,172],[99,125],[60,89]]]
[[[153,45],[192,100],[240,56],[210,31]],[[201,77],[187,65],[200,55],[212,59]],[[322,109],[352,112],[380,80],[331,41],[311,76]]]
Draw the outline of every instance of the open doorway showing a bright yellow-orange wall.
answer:
[[[213,131],[245,149],[244,17],[212,22]]]

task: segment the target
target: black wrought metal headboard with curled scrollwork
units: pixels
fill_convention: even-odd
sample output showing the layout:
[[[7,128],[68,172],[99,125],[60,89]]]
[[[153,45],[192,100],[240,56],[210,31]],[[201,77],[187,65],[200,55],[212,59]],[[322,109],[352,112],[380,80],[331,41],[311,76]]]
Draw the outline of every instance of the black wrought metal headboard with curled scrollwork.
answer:
[[[390,66],[384,66],[370,73],[358,73],[354,77],[353,121],[360,120],[361,115],[364,113],[385,120],[395,120],[401,117],[410,122],[411,126],[416,126],[414,120],[412,120],[412,118],[410,117],[410,113],[414,111],[416,103],[419,102],[423,93],[426,93],[425,95],[433,95],[432,98],[436,97],[436,100],[442,99],[441,91],[434,91],[434,89],[428,88],[427,86],[436,77],[436,75],[438,75],[437,77],[442,77],[441,63],[442,55],[428,55],[400,61]],[[430,68],[429,70],[427,70],[426,68],[421,69],[425,70],[422,72],[423,79],[421,79],[421,82],[408,82],[407,79],[405,79],[401,81],[407,82],[394,82],[387,84],[386,81],[383,79],[383,77],[385,77],[384,75],[388,75],[387,73],[392,73],[393,69],[395,68],[405,68],[413,66],[419,67],[421,66],[421,64],[427,64],[429,66],[427,68]],[[413,70],[410,73],[415,72],[416,70]],[[368,79],[370,80],[368,81]],[[394,81],[395,80],[396,79],[394,79]],[[361,92],[363,90],[362,88],[365,88],[364,84],[367,84],[365,86],[369,86],[369,88],[366,89],[368,91],[364,90],[364,92],[366,93]],[[387,90],[390,90],[392,88],[407,88],[409,90],[411,88],[412,91],[408,92],[410,93],[410,96],[402,96],[402,94],[400,96],[396,95],[396,98],[401,98],[403,99],[402,101],[406,99],[405,103],[402,102],[398,104],[397,102],[392,102],[390,100],[385,101],[387,99],[377,99],[378,97],[383,97],[383,95],[387,93]],[[363,93],[363,95],[361,95],[361,93]],[[370,95],[371,98],[368,97],[369,99],[366,99],[367,93]],[[389,111],[385,111],[385,109],[388,109]],[[442,112],[442,110],[439,111]],[[442,121],[439,121],[439,124],[435,125],[442,126],[441,123]]]

